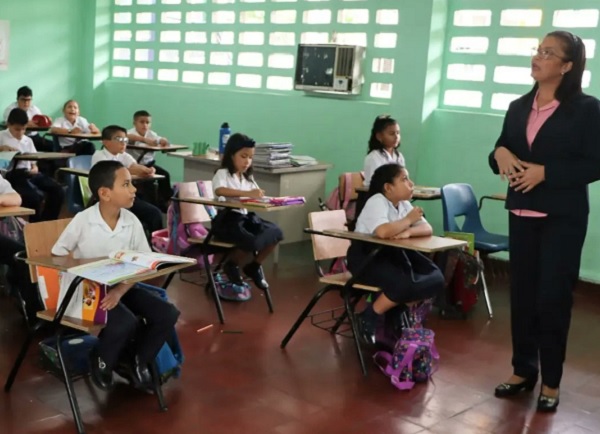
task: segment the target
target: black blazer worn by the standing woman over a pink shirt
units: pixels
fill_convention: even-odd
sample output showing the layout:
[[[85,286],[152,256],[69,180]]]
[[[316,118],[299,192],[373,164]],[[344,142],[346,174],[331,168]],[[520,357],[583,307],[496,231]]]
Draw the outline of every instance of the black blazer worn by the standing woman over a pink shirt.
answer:
[[[528,193],[508,187],[506,209],[530,209],[554,215],[587,215],[588,188],[600,179],[600,101],[580,94],[562,102],[537,133],[531,150],[526,127],[535,90],[513,101],[496,146],[522,161],[542,164],[546,179]],[[494,151],[489,164],[499,174]]]

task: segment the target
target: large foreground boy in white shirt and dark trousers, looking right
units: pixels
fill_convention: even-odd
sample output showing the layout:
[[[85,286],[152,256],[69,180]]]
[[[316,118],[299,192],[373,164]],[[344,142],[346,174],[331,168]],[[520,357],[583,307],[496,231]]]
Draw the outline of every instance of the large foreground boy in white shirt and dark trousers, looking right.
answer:
[[[127,210],[136,191],[129,171],[117,161],[101,161],[90,170],[89,185],[95,204],[73,218],[52,254],[99,258],[114,250],[150,252],[140,221]],[[150,387],[148,364],[172,333],[179,311],[146,289],[125,284],[110,288],[100,307],[108,310],[108,319],[90,356],[94,383],[102,389],[112,386],[113,369],[134,339],[132,380]]]

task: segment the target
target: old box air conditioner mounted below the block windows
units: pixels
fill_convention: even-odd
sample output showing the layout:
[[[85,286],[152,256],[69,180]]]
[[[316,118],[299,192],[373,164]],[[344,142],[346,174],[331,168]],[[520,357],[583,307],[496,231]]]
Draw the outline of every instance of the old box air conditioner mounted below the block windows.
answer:
[[[294,89],[358,95],[363,83],[365,47],[299,44]]]

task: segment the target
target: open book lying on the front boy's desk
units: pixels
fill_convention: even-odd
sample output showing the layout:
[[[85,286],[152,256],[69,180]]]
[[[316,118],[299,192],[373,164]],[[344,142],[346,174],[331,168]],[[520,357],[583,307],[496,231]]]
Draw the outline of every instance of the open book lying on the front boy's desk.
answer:
[[[138,274],[156,272],[168,265],[195,263],[195,259],[183,256],[118,250],[111,252],[107,259],[79,265],[67,271],[94,282],[115,285]]]

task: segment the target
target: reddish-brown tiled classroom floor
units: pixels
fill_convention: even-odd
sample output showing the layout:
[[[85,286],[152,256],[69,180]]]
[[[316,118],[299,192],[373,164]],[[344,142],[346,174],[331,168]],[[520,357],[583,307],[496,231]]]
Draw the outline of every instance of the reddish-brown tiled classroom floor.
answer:
[[[169,405],[160,413],[153,396],[128,387],[107,394],[76,383],[86,430],[131,433],[594,433],[600,432],[600,292],[576,292],[568,361],[556,415],[535,413],[533,394],[493,397],[510,373],[508,297],[503,276],[489,278],[495,317],[480,303],[470,319],[430,317],[441,364],[434,380],[400,392],[369,363],[359,370],[351,342],[308,324],[285,351],[281,339],[316,289],[308,245],[284,246],[281,265],[270,268],[275,313],[263,297],[225,305],[217,324],[203,291],[175,279],[169,290],[182,311],[178,323],[185,352],[183,375],[165,386]],[[318,308],[339,304],[336,295]],[[196,330],[214,327],[202,333]],[[240,330],[223,334],[221,330]],[[10,300],[0,299],[0,382],[4,383],[23,338]],[[62,384],[36,366],[31,351],[9,394],[0,393],[0,433],[73,433]]]

